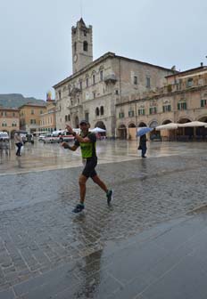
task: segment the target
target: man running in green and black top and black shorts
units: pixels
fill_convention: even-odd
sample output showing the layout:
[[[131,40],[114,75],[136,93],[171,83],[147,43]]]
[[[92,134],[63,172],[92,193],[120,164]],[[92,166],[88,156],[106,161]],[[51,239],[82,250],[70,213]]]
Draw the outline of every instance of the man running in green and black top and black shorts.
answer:
[[[62,142],[64,149],[72,151],[77,150],[80,147],[81,155],[83,159],[84,169],[82,174],[79,176],[79,204],[73,209],[73,213],[79,213],[85,208],[85,197],[86,197],[86,183],[90,177],[102,190],[104,190],[107,198],[107,204],[110,206],[112,202],[113,190],[109,190],[105,183],[99,178],[95,171],[97,165],[97,156],[95,151],[96,136],[95,133],[89,132],[90,124],[87,120],[82,120],[79,123],[80,133],[73,132],[70,125],[66,125],[66,129],[75,137],[75,142],[70,146],[67,142]]]

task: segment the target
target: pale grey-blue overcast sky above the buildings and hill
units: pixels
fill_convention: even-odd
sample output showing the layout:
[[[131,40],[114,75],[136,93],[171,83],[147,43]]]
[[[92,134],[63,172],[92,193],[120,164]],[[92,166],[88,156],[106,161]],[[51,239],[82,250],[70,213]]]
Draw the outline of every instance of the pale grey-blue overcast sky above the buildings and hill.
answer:
[[[0,93],[54,94],[72,72],[81,11],[94,60],[113,52],[178,70],[207,65],[207,0],[0,0]]]

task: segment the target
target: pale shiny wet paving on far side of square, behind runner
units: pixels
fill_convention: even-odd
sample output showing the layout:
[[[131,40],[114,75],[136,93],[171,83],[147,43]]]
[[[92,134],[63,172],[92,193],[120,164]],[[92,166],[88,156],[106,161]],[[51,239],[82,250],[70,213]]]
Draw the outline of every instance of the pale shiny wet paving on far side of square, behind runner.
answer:
[[[187,156],[193,153],[203,153],[206,142],[148,142],[147,157]],[[98,141],[98,163],[114,163],[140,158],[137,141]],[[144,162],[145,163],[145,162]],[[30,171],[69,168],[81,166],[80,152],[64,150],[60,144],[44,144],[36,141],[34,145],[27,143],[22,150],[22,156],[15,156],[12,144],[11,155],[0,157],[0,175],[20,174]]]

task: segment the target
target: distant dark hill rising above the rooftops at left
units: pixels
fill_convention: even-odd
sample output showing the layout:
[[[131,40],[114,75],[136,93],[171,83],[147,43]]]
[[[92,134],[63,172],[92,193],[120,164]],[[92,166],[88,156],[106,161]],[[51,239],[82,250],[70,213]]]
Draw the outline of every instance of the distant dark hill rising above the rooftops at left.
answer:
[[[4,108],[19,108],[27,103],[46,104],[46,101],[37,100],[33,97],[25,98],[20,93],[0,94],[0,107],[2,106]]]

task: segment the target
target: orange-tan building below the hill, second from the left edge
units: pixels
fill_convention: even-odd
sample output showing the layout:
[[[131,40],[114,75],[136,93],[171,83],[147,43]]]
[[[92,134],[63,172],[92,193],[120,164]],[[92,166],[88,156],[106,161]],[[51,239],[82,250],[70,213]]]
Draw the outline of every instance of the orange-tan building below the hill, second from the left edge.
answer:
[[[27,103],[20,108],[20,128],[28,133],[39,131],[40,117],[46,112],[46,105]]]

